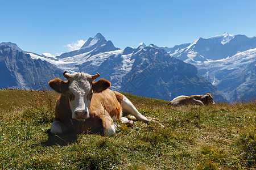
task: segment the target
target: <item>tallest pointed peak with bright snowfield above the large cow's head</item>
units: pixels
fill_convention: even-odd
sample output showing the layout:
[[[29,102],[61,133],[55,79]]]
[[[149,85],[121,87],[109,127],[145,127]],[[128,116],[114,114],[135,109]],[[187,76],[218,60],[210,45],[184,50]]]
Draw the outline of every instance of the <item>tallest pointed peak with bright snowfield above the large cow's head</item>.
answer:
[[[27,54],[30,54],[33,59],[52,63],[61,70],[77,72],[84,63],[90,63],[90,67],[98,66],[109,56],[119,54],[121,51],[115,48],[111,41],[106,41],[101,33],[97,33],[94,38],[90,37],[79,50],[63,53],[60,56],[52,57],[28,52]]]

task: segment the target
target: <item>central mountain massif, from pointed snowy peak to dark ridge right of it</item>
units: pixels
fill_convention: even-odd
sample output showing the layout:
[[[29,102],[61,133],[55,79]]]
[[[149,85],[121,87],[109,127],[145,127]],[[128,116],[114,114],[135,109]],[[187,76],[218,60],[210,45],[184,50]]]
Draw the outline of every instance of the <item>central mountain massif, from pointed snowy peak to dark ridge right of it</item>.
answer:
[[[150,44],[138,48],[115,48],[100,33],[89,38],[79,50],[55,58],[29,53],[34,59],[43,59],[69,73],[84,71],[101,74],[110,80],[112,89],[131,94],[171,100],[177,95],[212,92],[216,100],[225,97],[208,80],[197,74],[195,66]]]

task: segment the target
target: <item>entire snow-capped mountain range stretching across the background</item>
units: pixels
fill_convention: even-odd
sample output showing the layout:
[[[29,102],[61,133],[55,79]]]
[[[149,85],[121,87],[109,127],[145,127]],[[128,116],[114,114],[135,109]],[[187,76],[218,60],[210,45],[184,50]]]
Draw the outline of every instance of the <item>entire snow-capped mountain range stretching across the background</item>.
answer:
[[[241,94],[245,96],[255,94],[255,88],[253,89],[255,86],[255,49],[251,45],[254,41],[242,41],[245,44],[242,48],[238,48],[239,42],[233,43],[238,46],[240,52],[236,52],[232,47],[230,50],[224,48],[226,51],[223,53],[216,52],[221,45],[229,44],[235,38],[236,36],[225,33],[210,39],[200,38],[191,44],[177,45],[173,48],[159,48],[153,44],[146,46],[142,43],[137,48],[119,49],[113,45],[112,41],[106,41],[104,36],[98,33],[95,37],[90,37],[79,50],[56,57],[24,52],[16,44],[2,42],[0,44],[0,70],[2,74],[5,74],[6,80],[8,78],[12,80],[3,81],[0,87],[34,88],[33,83],[38,81],[47,83],[55,77],[63,78],[61,74],[64,70],[68,70],[69,73],[83,71],[96,74],[98,72],[101,78],[112,82],[113,90],[130,92],[134,95],[171,100],[178,95],[210,92],[216,101],[225,101],[225,96],[228,96],[226,98],[230,101],[236,100]],[[217,42],[221,45],[216,47],[214,44]],[[250,49],[246,45],[251,45]],[[229,56],[225,57],[226,54]],[[229,59],[232,57],[241,58],[240,61],[246,63],[240,65],[239,68],[243,68],[243,71],[239,76],[234,76],[233,72],[224,75],[225,66],[232,65],[232,60]],[[223,69],[224,71],[220,72]],[[223,80],[217,75],[221,75]],[[246,76],[247,82],[243,82],[244,77],[240,75]],[[212,82],[213,76],[217,84]],[[232,78],[241,79],[240,91],[234,91],[233,86],[229,86],[231,83],[229,79]],[[220,82],[225,84],[225,79],[228,85],[218,86]],[[246,95],[246,92],[249,94]],[[237,96],[230,96],[232,93],[236,93]]]

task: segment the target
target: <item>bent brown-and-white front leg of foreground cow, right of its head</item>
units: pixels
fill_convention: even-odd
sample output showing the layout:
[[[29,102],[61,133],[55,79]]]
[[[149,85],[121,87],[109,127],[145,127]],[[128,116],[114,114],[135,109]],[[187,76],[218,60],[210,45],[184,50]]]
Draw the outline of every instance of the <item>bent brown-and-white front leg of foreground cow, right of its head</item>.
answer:
[[[105,136],[112,136],[115,134],[115,129],[117,124],[113,123],[113,120],[110,116],[103,115],[101,117],[103,125],[103,133]]]

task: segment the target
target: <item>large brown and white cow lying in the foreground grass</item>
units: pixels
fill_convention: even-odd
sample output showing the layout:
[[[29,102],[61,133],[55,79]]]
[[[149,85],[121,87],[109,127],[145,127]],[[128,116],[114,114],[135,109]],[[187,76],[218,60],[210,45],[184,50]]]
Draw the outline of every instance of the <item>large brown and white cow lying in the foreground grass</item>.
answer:
[[[100,74],[69,75],[65,71],[63,75],[68,79],[66,82],[59,78],[49,82],[49,87],[60,94],[51,133],[62,134],[75,131],[76,134],[89,132],[113,135],[116,121],[133,126],[133,121],[123,117],[128,114],[132,114],[139,121],[156,122],[139,113],[125,96],[109,90],[108,80],[100,79],[93,82]],[[156,123],[163,126],[159,122]]]

